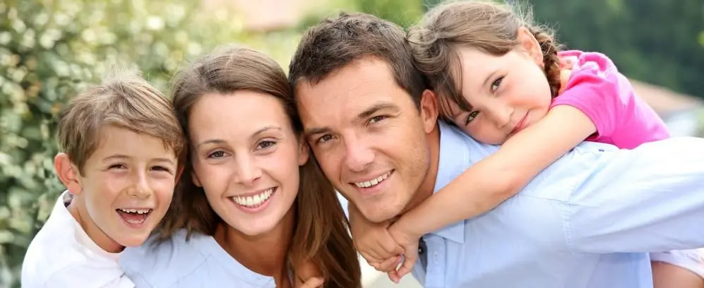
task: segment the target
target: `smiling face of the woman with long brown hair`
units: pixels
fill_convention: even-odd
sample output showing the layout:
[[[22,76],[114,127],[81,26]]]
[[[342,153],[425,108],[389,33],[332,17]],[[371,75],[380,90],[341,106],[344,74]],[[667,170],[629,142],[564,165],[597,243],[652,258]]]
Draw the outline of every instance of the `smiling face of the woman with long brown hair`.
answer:
[[[215,213],[255,236],[288,212],[308,152],[275,97],[241,90],[203,95],[191,108],[193,183]]]

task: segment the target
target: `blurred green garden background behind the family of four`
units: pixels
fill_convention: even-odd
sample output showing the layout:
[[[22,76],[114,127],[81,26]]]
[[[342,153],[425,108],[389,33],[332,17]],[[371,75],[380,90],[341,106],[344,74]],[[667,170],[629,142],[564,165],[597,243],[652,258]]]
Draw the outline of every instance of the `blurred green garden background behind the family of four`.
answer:
[[[184,60],[239,42],[287,69],[302,31],[339,11],[404,27],[434,0],[0,0],[0,288],[64,190],[56,114],[116,61],[164,92]],[[676,136],[704,136],[704,0],[529,0],[570,49],[603,52]],[[364,260],[362,261],[364,263]],[[365,287],[391,284],[364,266]]]

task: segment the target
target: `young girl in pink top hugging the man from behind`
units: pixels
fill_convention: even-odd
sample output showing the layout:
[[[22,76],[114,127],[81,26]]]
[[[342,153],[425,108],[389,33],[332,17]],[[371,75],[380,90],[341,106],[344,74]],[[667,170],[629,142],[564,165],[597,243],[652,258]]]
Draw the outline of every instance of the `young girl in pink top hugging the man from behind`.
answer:
[[[584,140],[632,149],[669,137],[607,56],[558,52],[546,29],[520,15],[530,13],[493,2],[455,2],[429,11],[409,32],[414,60],[438,92],[443,117],[475,140],[502,147],[402,215],[388,232],[358,223],[357,248],[378,270],[398,264],[381,248],[398,247],[388,245],[393,239],[405,251],[398,276],[410,272],[423,234],[495,208]],[[390,277],[398,281],[394,272]],[[675,277],[655,275],[668,277],[665,282]]]

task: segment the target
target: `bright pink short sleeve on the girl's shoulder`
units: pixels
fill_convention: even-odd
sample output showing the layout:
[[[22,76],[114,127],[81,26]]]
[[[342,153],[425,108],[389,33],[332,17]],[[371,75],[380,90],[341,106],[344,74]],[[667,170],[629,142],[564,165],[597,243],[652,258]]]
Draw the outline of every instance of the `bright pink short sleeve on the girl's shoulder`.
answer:
[[[629,102],[622,99],[629,94],[621,91],[622,81],[628,83],[628,80],[611,65],[594,61],[580,63],[551,107],[570,105],[580,109],[594,122],[599,137],[611,138]]]

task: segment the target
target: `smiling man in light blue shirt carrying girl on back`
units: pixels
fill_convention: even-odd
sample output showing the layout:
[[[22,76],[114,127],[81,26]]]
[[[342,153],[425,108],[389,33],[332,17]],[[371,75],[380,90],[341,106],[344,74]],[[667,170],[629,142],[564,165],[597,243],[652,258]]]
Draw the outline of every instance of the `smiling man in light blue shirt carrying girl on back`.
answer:
[[[372,222],[498,149],[437,121],[404,32],[375,16],[310,28],[289,77],[321,169]],[[583,143],[499,208],[424,235],[414,275],[425,287],[652,287],[646,251],[704,246],[703,147]]]

